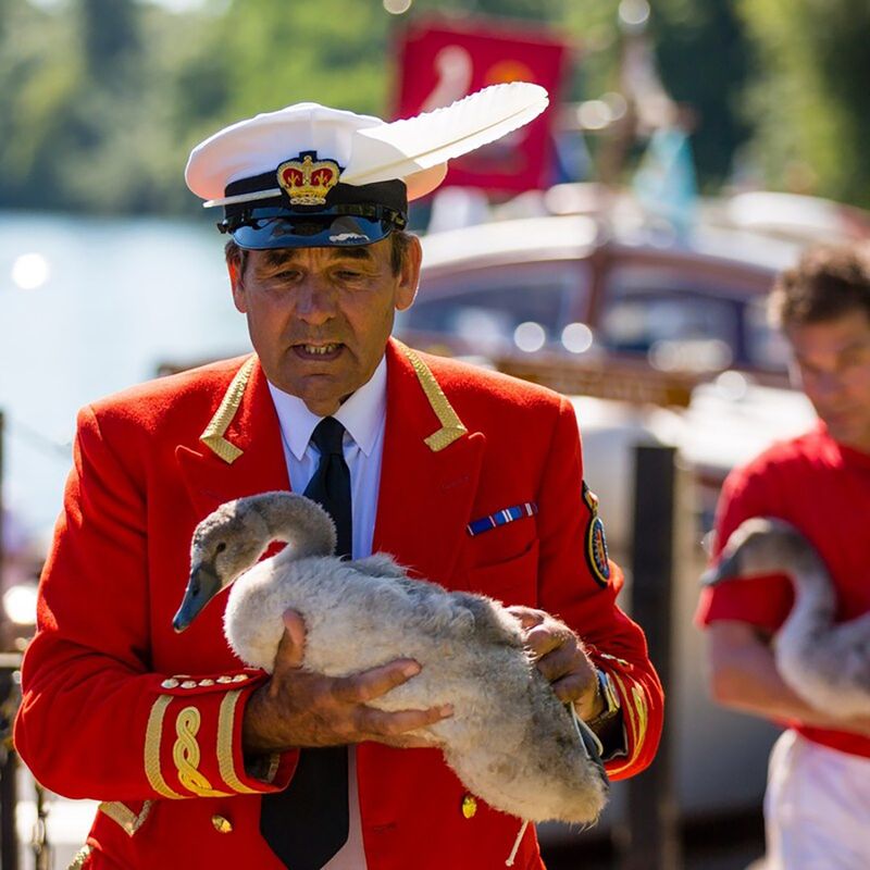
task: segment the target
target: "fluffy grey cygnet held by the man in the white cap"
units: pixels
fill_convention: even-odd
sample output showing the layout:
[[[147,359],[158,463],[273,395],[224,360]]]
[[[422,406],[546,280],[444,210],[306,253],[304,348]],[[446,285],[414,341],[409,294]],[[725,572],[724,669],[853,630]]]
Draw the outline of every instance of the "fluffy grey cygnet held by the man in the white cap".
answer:
[[[273,539],[289,546],[254,563]],[[247,664],[272,671],[288,608],[304,619],[312,671],[343,676],[415,659],[422,671],[373,706],[451,704],[453,716],[425,731],[474,794],[532,821],[597,819],[608,791],[604,769],[530,660],[518,621],[484,596],[409,579],[388,556],[341,561],[330,555],[334,545],[332,520],[302,496],[266,493],[222,506],[194,536],[176,627],[192,619],[185,608],[191,586],[202,585],[198,573],[217,575],[221,586],[241,574],[224,629]]]

